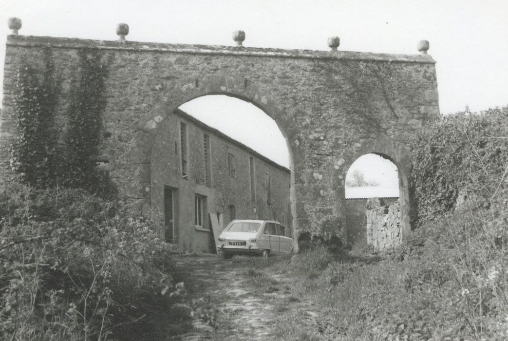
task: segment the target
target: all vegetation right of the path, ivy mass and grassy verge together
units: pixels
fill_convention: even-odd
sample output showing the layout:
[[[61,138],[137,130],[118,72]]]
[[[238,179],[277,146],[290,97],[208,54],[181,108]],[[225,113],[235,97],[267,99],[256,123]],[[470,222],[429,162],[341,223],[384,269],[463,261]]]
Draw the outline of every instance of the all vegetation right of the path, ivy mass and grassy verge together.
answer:
[[[508,108],[436,122],[415,150],[410,240],[383,259],[315,245],[276,265],[294,299],[277,302],[275,339],[508,337]]]

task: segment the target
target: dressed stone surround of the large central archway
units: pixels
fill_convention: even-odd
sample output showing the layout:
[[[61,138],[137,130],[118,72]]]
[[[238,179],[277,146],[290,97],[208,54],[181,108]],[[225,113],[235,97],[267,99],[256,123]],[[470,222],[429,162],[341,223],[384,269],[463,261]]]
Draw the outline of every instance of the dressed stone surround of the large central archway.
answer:
[[[171,99],[158,105],[146,113],[137,122],[136,133],[131,141],[129,160],[133,165],[133,185],[131,190],[137,195],[138,200],[134,207],[143,211],[151,209],[152,187],[152,149],[157,134],[160,134],[161,123],[182,104],[208,95],[226,95],[238,98],[260,108],[265,114],[275,120],[279,130],[284,136],[290,157],[291,186],[294,184],[294,162],[290,138],[287,135],[291,131],[288,124],[281,122],[281,109],[271,98],[270,94],[259,91],[246,79],[230,76],[209,76],[202,81],[187,80],[182,86],[171,91]],[[293,231],[298,230],[298,221],[293,214]]]

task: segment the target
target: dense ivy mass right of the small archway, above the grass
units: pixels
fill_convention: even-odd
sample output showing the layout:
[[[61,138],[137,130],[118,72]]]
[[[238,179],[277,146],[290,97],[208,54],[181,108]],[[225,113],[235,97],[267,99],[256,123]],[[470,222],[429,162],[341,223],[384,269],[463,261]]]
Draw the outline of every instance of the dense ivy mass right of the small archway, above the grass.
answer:
[[[414,226],[452,211],[460,197],[488,206],[508,187],[508,107],[445,116],[412,146]]]

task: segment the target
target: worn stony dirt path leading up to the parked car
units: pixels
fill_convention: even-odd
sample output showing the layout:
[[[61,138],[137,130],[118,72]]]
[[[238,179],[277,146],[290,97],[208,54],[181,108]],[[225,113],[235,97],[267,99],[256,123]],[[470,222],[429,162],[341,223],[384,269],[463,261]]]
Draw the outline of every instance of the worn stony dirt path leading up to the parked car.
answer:
[[[280,339],[274,336],[275,318],[280,302],[291,299],[290,280],[283,275],[289,260],[289,256],[179,258],[177,266],[186,273],[189,292],[212,302],[218,315],[217,328],[195,319],[193,330],[177,339]]]

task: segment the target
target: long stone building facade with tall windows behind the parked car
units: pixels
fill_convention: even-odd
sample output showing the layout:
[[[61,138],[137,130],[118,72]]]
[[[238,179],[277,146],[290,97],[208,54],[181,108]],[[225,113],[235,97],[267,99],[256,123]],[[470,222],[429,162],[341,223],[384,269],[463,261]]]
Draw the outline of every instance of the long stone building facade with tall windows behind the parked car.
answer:
[[[234,219],[274,219],[291,236],[289,169],[181,110],[161,124],[151,192],[167,242],[214,252],[215,218],[219,229]]]

